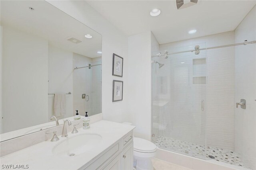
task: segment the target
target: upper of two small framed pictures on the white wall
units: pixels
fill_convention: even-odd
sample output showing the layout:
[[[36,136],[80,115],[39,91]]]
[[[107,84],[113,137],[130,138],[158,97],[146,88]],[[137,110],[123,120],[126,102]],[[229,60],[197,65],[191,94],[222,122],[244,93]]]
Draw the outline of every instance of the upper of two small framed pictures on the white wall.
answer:
[[[113,76],[123,76],[123,57],[116,55],[113,53],[113,68],[112,68],[112,75]]]

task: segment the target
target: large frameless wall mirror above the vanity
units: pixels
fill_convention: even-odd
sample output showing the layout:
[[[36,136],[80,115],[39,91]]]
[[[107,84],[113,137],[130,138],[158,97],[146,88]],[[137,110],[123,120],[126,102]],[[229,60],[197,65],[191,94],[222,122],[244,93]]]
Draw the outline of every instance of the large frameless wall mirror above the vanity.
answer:
[[[0,3],[1,141],[101,113],[102,36],[46,1]]]

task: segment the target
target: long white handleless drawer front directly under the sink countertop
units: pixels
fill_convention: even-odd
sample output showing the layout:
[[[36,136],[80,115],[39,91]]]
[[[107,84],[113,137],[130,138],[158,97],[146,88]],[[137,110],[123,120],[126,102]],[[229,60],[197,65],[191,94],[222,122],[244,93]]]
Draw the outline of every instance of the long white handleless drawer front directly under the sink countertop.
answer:
[[[97,158],[96,161],[94,161],[92,164],[87,166],[85,170],[96,170],[100,167],[106,166],[108,164],[108,161],[113,159],[116,155],[118,155],[121,152],[121,141],[118,141],[113,147],[108,149],[106,152],[102,154],[99,158]]]

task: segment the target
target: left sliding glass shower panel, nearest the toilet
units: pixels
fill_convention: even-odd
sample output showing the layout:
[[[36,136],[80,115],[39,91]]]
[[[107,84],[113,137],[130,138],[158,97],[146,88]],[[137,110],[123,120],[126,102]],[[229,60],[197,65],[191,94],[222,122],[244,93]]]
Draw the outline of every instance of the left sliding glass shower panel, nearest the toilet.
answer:
[[[206,158],[206,50],[160,47],[152,57],[152,141],[160,148]],[[191,50],[191,51],[189,51]],[[158,52],[156,52],[158,53]]]

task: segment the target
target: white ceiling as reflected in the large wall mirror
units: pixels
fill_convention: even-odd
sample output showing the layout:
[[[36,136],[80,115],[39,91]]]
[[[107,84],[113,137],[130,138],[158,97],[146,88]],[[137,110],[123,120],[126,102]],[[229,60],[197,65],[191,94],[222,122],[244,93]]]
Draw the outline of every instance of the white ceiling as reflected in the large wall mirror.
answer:
[[[1,1],[1,26],[37,35],[65,51],[90,58],[101,57],[97,53],[101,51],[101,35],[46,1]],[[92,38],[85,38],[86,34],[92,35]],[[67,41],[72,37],[82,42],[75,44]]]

